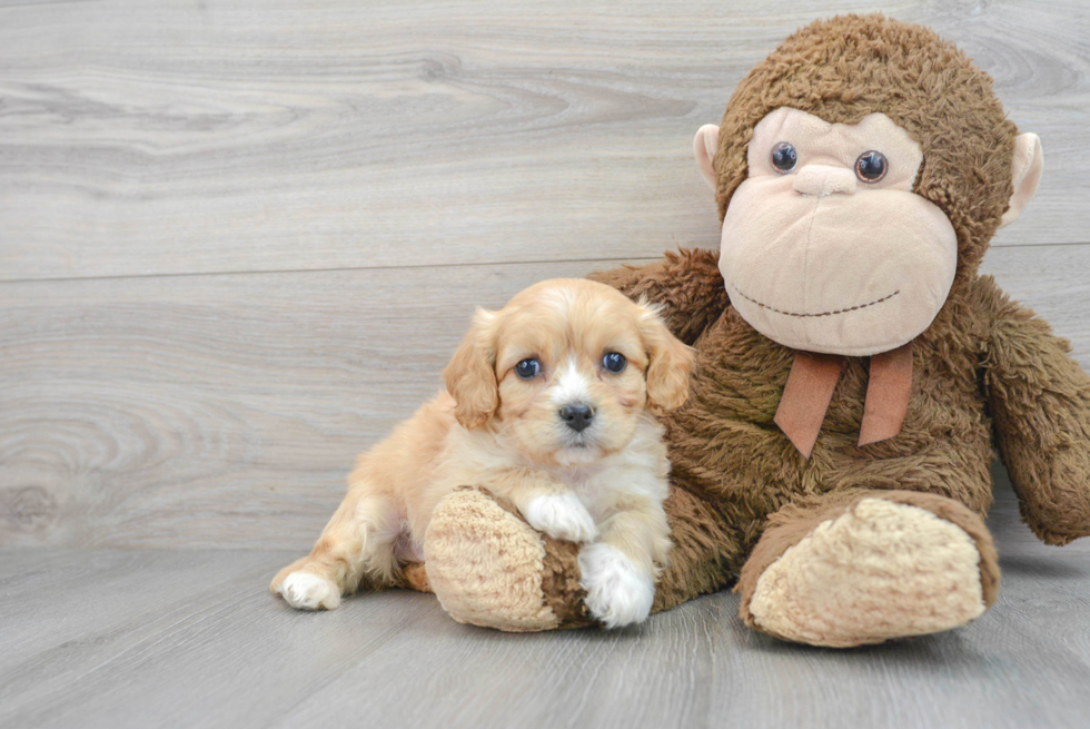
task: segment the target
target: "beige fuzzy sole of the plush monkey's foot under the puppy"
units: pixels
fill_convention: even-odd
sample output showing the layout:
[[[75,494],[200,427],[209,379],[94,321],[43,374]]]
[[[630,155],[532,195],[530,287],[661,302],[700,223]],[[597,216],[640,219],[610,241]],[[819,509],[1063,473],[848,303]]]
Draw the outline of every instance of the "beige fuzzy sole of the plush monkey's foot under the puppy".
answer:
[[[511,632],[559,625],[542,590],[541,535],[479,491],[457,491],[439,502],[424,559],[432,590],[458,622]]]

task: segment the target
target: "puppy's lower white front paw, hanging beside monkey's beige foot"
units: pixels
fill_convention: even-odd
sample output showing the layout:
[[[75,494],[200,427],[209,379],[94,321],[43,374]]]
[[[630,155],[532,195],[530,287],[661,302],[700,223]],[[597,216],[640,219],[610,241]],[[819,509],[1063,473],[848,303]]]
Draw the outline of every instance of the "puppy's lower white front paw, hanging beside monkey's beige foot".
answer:
[[[643,622],[655,600],[655,580],[610,544],[589,544],[579,551],[584,602],[606,628]]]

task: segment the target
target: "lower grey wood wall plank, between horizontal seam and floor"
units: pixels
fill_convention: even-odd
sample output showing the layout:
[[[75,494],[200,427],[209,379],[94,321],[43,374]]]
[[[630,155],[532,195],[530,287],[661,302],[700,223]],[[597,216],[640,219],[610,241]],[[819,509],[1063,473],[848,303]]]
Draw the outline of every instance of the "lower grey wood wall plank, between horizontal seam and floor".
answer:
[[[1090,365],[1090,246],[992,250]],[[0,285],[0,544],[307,549],[474,304],[612,263]]]

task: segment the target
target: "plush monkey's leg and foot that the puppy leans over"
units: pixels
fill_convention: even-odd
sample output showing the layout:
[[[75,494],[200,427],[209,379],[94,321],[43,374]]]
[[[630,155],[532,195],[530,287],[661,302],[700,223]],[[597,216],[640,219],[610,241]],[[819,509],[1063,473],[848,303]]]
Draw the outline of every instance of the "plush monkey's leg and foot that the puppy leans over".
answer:
[[[715,510],[692,494],[672,487],[665,509],[674,548],[652,612],[726,587],[727,564],[739,553]],[[455,620],[518,632],[593,623],[583,603],[578,550],[472,489],[439,502],[424,540],[432,590]]]

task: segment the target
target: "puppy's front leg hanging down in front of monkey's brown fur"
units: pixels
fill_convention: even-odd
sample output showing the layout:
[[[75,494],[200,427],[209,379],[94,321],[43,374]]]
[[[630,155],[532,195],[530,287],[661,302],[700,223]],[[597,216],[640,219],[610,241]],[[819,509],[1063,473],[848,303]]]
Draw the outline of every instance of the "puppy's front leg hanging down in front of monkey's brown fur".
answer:
[[[655,601],[655,578],[666,565],[670,526],[662,505],[633,496],[602,524],[597,542],[579,551],[584,602],[606,628],[643,622]]]

